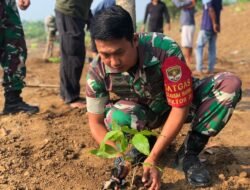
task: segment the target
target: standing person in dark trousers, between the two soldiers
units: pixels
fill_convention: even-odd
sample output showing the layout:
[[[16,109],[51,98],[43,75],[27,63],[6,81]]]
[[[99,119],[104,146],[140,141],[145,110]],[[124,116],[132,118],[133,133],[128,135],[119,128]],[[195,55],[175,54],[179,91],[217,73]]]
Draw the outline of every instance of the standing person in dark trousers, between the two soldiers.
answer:
[[[62,62],[60,95],[72,108],[84,108],[80,98],[80,78],[85,60],[85,32],[92,0],[56,0],[56,24],[59,31]]]

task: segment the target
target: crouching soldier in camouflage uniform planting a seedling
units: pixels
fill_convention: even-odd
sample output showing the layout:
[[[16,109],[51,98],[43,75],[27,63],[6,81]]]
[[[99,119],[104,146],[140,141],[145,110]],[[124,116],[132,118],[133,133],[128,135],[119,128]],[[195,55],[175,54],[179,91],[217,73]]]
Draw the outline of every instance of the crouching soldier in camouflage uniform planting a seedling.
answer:
[[[134,34],[131,17],[119,6],[95,16],[91,29],[99,57],[88,71],[86,99],[95,140],[103,140],[112,130],[112,122],[138,130],[163,125],[144,161],[150,164],[144,165],[142,178],[146,187],[156,190],[160,188],[160,174],[152,166],[190,114],[191,131],[177,160],[183,160],[190,184],[209,185],[209,172],[198,154],[229,121],[241,97],[241,80],[228,72],[203,80],[193,78],[175,41],[159,33]],[[111,92],[118,100],[110,99]],[[117,176],[125,177],[123,172]]]

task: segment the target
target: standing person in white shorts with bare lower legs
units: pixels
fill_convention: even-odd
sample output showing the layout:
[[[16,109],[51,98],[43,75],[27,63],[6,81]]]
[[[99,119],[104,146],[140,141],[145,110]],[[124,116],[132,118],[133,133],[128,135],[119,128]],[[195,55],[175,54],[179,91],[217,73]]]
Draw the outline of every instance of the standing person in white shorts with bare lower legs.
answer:
[[[176,7],[181,8],[181,46],[187,64],[191,65],[195,32],[195,0],[172,0],[172,2]]]

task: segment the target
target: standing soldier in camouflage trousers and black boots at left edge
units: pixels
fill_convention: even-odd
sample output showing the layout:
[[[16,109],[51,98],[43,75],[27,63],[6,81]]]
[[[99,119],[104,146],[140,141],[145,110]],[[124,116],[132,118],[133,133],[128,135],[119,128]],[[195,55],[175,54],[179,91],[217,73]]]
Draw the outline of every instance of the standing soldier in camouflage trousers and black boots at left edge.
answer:
[[[22,10],[29,5],[30,0],[18,1]],[[0,63],[4,72],[2,85],[5,97],[3,114],[34,114],[39,111],[37,106],[25,103],[21,97],[25,86],[26,58],[27,47],[16,1],[0,1]]]

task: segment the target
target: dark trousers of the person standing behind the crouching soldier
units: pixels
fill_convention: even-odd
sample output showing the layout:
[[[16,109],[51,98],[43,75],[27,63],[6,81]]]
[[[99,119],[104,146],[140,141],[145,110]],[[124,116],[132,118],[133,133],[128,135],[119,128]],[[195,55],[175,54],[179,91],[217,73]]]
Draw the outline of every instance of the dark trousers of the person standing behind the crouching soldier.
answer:
[[[80,78],[85,60],[85,21],[56,12],[61,48],[60,95],[65,103],[74,102],[80,95]]]

